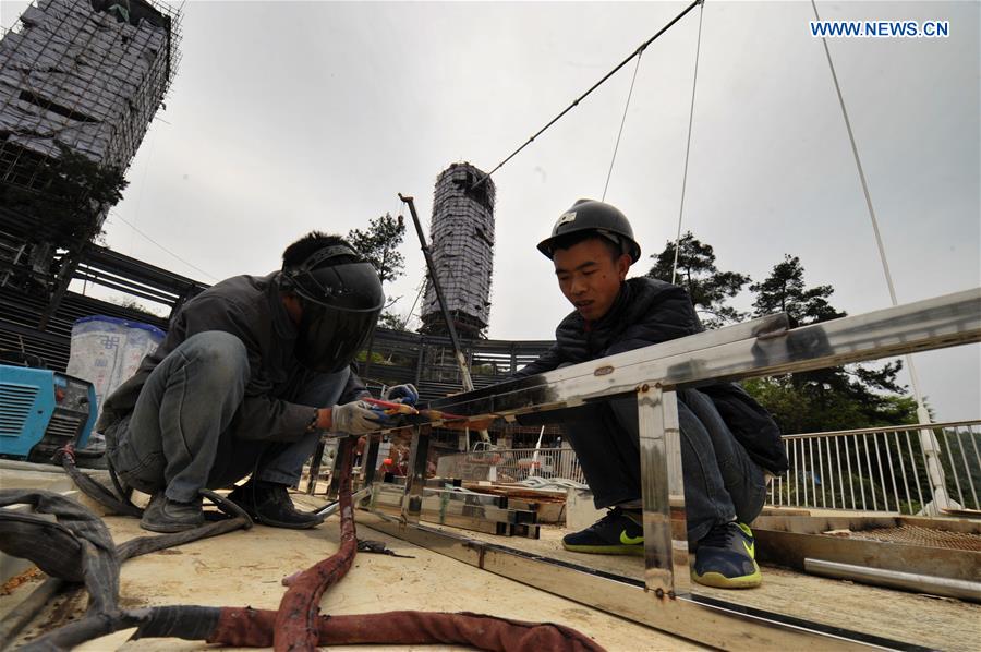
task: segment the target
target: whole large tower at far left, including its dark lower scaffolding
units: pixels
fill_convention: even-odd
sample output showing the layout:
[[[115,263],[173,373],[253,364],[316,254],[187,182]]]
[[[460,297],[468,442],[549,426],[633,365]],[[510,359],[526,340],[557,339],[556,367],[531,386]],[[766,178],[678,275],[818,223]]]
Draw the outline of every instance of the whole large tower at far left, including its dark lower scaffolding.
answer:
[[[26,269],[50,288],[84,246],[60,239],[59,218],[44,208],[60,173],[52,170],[126,169],[173,80],[179,41],[179,12],[149,0],[37,0],[3,35],[0,265],[8,271]],[[78,205],[95,214],[86,232],[97,232],[108,206],[93,202],[85,183],[77,188]]]

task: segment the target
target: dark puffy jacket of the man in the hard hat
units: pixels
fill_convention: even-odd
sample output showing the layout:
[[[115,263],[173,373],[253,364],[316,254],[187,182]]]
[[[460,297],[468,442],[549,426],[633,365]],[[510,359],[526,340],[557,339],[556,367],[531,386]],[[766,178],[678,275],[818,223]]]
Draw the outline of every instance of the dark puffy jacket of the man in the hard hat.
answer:
[[[653,278],[631,278],[603,318],[588,323],[578,312],[555,329],[555,345],[512,377],[530,376],[564,364],[596,360],[702,331],[688,292]],[[741,387],[718,383],[699,390],[708,395],[736,439],[753,460],[773,473],[787,470],[780,430],[766,410]],[[683,400],[683,393],[679,393]]]

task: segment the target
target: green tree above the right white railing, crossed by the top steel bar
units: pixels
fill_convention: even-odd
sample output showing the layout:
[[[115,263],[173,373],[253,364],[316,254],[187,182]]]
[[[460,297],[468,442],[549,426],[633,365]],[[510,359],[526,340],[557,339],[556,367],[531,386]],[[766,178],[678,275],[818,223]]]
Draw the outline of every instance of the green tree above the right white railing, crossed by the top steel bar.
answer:
[[[832,306],[831,286],[808,288],[797,256],[785,255],[770,276],[750,286],[753,316],[785,312],[792,328],[844,317]],[[916,401],[896,381],[901,361],[877,367],[848,365],[758,378],[746,383],[786,433],[916,423]]]

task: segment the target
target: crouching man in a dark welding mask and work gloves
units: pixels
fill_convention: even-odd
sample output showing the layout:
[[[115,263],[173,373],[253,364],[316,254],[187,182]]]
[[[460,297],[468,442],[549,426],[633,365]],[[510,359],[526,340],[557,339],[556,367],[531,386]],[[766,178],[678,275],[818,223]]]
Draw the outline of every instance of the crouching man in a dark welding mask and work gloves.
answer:
[[[385,303],[374,267],[340,237],[311,232],[282,268],[205,290],[171,318],[160,347],[106,400],[98,428],[128,485],[150,494],[141,526],[178,532],[202,524],[202,488],[254,520],[311,528],[288,487],[323,434],[361,435],[386,415],[352,362]],[[383,398],[415,402],[411,385]]]

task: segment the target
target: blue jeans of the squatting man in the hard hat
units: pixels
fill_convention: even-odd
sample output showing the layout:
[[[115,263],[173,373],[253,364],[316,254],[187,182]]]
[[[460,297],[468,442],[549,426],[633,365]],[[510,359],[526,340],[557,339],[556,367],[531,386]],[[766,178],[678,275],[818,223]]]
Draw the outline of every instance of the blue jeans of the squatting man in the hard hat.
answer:
[[[694,544],[712,526],[735,518],[749,523],[756,518],[766,498],[766,480],[711,398],[685,389],[678,399],[688,541]],[[640,499],[637,399],[573,408],[562,419],[562,430],[597,508]]]

